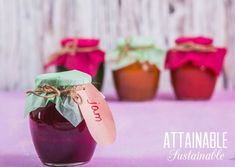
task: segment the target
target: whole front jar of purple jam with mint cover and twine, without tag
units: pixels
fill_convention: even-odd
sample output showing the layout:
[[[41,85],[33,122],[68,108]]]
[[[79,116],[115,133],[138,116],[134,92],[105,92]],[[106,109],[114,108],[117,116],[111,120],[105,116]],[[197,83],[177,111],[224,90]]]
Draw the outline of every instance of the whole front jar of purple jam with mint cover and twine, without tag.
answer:
[[[36,77],[29,91],[26,114],[36,152],[48,166],[72,166],[88,162],[95,150],[86,122],[73,100],[73,87],[91,82],[79,71],[48,73]]]

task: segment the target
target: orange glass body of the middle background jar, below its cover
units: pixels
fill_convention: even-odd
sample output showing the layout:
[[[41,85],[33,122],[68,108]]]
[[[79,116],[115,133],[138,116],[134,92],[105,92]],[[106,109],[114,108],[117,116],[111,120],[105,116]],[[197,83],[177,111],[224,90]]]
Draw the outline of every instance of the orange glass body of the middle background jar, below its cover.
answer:
[[[137,62],[113,71],[113,77],[120,100],[142,101],[154,98],[160,70],[147,62]]]

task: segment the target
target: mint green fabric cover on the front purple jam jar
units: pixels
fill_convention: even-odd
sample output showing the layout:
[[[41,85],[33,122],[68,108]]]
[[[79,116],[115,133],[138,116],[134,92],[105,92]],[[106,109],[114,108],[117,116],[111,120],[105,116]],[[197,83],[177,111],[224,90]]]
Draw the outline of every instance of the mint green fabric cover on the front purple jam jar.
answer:
[[[87,83],[91,83],[91,76],[76,70],[41,74],[35,79],[36,88],[50,85],[58,90],[65,90],[66,88]],[[47,94],[41,92],[40,95],[50,96],[50,93]],[[83,120],[78,104],[72,99],[72,97],[63,94],[44,98],[30,92],[27,93],[25,116],[40,107],[46,107],[49,102],[54,103],[57,111],[71,122],[73,126],[76,127]]]

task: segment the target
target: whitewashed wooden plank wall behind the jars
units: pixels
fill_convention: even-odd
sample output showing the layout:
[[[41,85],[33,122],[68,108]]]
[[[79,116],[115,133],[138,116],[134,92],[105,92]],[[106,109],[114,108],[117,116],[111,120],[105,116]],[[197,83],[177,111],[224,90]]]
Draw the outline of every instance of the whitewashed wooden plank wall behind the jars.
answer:
[[[235,88],[233,0],[0,0],[0,90],[32,87],[63,37],[98,37],[109,51],[119,37],[145,35],[169,48],[181,35],[205,35],[229,49],[218,89]],[[112,89],[107,68],[105,91]],[[163,72],[161,90],[170,89]]]

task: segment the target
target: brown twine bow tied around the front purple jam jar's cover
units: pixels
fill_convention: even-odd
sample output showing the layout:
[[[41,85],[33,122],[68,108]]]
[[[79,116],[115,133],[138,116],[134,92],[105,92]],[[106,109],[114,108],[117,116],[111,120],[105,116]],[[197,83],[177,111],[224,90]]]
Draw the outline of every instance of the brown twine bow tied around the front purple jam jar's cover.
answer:
[[[61,95],[70,96],[77,104],[82,103],[82,97],[79,95],[78,91],[84,90],[81,86],[72,86],[67,87],[65,89],[58,89],[52,85],[45,84],[43,86],[37,87],[35,90],[29,90],[26,93],[27,94],[34,94],[38,97],[42,97],[45,99],[54,98]],[[46,95],[42,95],[42,93],[45,93]]]

